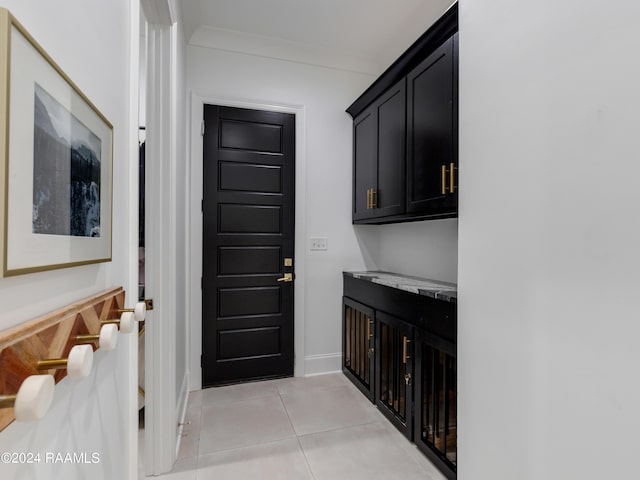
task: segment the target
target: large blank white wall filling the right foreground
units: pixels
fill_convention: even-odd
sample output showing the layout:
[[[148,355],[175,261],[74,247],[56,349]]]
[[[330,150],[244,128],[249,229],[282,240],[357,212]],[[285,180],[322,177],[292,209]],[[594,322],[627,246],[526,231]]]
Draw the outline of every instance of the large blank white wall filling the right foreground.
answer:
[[[638,18],[461,2],[460,479],[637,476]]]

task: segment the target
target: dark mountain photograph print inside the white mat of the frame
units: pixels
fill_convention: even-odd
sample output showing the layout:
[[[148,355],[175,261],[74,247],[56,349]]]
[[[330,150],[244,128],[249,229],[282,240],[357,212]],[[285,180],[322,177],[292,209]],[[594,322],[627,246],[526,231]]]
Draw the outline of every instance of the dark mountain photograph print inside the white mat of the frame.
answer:
[[[101,140],[35,84],[34,234],[100,237]]]

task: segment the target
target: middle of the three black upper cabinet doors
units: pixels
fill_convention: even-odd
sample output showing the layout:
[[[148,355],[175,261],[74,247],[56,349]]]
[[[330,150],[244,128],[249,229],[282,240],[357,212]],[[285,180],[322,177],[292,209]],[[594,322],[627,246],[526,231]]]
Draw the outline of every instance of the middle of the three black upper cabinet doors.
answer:
[[[376,217],[405,211],[406,88],[403,78],[375,102],[378,115]]]

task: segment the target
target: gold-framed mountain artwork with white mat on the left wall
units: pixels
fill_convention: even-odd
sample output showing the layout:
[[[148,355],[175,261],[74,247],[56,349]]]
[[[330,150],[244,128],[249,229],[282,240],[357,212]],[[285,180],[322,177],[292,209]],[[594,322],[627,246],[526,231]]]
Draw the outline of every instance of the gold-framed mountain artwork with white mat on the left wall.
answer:
[[[0,9],[2,276],[111,260],[113,127]]]

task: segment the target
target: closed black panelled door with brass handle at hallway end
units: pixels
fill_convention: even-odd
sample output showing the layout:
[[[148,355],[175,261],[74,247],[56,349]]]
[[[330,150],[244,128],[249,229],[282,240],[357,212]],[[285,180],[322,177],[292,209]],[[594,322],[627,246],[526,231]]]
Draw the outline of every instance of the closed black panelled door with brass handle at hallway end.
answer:
[[[204,121],[202,384],[292,375],[295,117]]]

